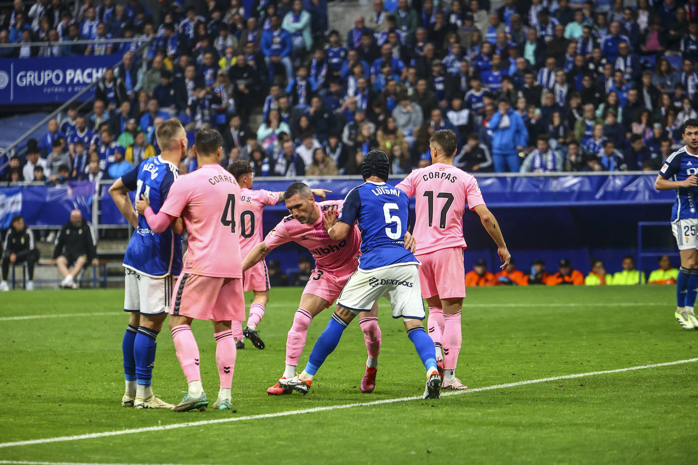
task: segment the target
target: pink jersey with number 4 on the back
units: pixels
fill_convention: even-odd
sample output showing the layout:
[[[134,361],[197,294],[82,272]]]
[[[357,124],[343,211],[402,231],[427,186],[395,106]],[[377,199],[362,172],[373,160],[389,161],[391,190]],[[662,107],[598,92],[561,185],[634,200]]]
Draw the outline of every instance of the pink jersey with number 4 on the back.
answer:
[[[182,273],[242,277],[240,186],[221,165],[204,165],[174,180],[160,211],[184,218],[189,247]]]

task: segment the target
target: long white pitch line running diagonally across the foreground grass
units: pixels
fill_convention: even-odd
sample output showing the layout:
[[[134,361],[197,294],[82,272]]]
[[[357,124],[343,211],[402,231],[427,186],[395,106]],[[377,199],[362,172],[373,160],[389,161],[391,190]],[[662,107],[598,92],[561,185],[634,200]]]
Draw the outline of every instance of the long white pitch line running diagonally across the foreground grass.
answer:
[[[485,386],[483,388],[444,392],[443,396],[459,395],[459,394],[466,394],[468,392],[480,392],[480,391],[485,391],[485,390],[513,388],[514,386],[523,386],[524,384],[545,383],[547,381],[557,381],[559,379],[574,379],[574,378],[584,378],[585,376],[597,376],[599,374],[631,372],[631,371],[634,371],[637,369],[667,367],[669,365],[681,365],[682,363],[692,363],[692,362],[698,362],[698,358],[687,358],[685,360],[676,360],[674,362],[653,363],[652,365],[639,365],[636,367],[607,369],[607,370],[604,370],[602,372],[565,374],[563,376],[551,376],[550,378],[529,379],[528,381],[517,381],[516,383],[496,384],[494,386]],[[59,436],[59,437],[55,437],[55,438],[30,439],[29,441],[15,441],[15,442],[11,442],[11,443],[0,443],[0,448],[8,448],[8,447],[13,447],[15,445],[34,445],[34,444],[45,444],[45,443],[59,443],[59,442],[66,442],[66,441],[79,441],[81,439],[95,439],[95,438],[103,438],[103,437],[107,437],[107,436],[121,436],[123,434],[145,433],[145,432],[151,432],[151,431],[166,431],[168,429],[179,429],[179,428],[195,427],[195,426],[203,426],[203,425],[215,425],[217,423],[229,423],[229,422],[235,422],[235,421],[260,420],[262,418],[278,418],[278,417],[299,415],[301,413],[315,413],[315,412],[323,412],[323,411],[330,411],[330,410],[350,409],[352,407],[364,407],[364,406],[371,406],[371,405],[394,404],[395,402],[407,402],[410,400],[422,400],[422,396],[397,397],[396,399],[382,399],[382,400],[376,400],[373,402],[357,402],[355,404],[329,405],[329,406],[325,406],[325,407],[315,407],[313,409],[291,410],[291,411],[276,412],[276,413],[264,413],[262,415],[248,415],[248,416],[235,417],[235,418],[219,418],[217,420],[202,420],[202,421],[195,421],[195,422],[173,423],[172,425],[158,425],[158,426],[151,426],[151,427],[144,427],[144,428],[120,429],[117,431],[105,431],[105,432],[101,432],[101,433],[77,434],[75,436]],[[2,462],[0,462],[0,463],[2,463]]]

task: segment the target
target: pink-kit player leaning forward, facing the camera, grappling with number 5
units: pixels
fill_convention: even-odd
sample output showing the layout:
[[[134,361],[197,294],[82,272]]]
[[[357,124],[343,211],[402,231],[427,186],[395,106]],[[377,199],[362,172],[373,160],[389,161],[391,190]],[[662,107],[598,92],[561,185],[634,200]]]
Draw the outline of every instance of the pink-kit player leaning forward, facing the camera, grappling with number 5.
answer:
[[[306,247],[315,259],[315,270],[303,291],[298,310],[286,339],[286,365],[281,379],[295,376],[298,360],[306,343],[308,326],[315,315],[334,303],[344,284],[359,266],[361,234],[352,227],[346,238],[333,241],[322,227],[322,217],[329,208],[341,211],[343,200],[316,202],[313,192],[304,183],[292,183],[283,193],[286,208],[290,215],[281,220],[264,241],[255,245],[242,262],[246,271],[269,254],[275,247],[295,242]],[[364,332],[366,351],[366,371],[361,382],[362,392],[373,392],[376,387],[378,353],[380,353],[380,328],[378,327],[377,305],[371,312],[359,313],[359,325]],[[269,395],[290,394],[290,388],[276,383],[267,389]]]

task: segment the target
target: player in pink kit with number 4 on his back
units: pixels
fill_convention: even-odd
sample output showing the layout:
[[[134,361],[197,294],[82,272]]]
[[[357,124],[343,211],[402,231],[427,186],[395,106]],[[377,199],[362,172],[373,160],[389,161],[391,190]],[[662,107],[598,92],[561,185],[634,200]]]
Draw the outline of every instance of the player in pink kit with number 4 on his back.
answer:
[[[193,319],[212,320],[216,338],[216,365],[221,379],[214,409],[231,409],[230,388],[235,368],[235,340],[231,321],[242,320],[242,259],[235,208],[240,187],[218,165],[223,138],[218,131],[203,129],[195,135],[194,153],[199,169],[172,183],[165,204],[155,214],[145,197],[136,211],[153,231],[163,231],[172,219],[184,219],[189,245],[184,267],[174,286],[170,307],[170,331],[188,391],[174,411],[206,409],[209,404],[201,385],[199,349],[191,332]],[[221,253],[225,250],[225,253]]]

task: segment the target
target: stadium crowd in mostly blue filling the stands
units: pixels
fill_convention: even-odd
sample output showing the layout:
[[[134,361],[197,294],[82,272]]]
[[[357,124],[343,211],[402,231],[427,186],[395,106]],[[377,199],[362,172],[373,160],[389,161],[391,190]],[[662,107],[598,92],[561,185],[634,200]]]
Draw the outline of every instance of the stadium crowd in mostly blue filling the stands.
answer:
[[[376,0],[346,37],[328,32],[325,0],[15,0],[0,43],[31,40],[52,42],[0,53],[124,60],[8,181],[118,178],[158,152],[170,116],[221,130],[221,164],[256,176],[358,174],[374,148],[406,174],[444,128],[466,171],[655,171],[698,108],[697,0]]]

